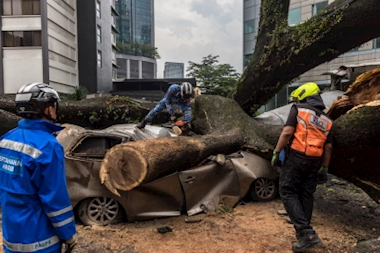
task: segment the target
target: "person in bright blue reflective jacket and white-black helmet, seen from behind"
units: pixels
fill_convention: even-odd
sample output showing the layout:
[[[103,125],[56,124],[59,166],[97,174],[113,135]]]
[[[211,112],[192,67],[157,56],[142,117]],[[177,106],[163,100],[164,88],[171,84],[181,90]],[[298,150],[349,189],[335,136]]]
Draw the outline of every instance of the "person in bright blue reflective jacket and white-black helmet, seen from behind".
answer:
[[[76,244],[63,147],[55,138],[58,93],[48,84],[16,94],[18,126],[0,138],[3,248],[6,253],[70,252]]]

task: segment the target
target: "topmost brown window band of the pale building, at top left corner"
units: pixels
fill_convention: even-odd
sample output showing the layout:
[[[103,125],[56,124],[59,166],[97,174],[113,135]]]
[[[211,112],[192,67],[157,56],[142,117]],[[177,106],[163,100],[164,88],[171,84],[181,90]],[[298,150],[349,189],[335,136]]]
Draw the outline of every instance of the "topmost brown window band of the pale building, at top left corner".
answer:
[[[2,15],[40,15],[40,0],[3,0]]]

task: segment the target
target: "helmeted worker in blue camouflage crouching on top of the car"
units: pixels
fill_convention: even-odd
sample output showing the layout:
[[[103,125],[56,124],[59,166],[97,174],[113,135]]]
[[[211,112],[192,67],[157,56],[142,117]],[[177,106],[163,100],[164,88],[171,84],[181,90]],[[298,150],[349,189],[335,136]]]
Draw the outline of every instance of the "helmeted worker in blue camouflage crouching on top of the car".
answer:
[[[181,85],[179,84],[172,84],[169,86],[168,91],[166,91],[165,97],[158,102],[158,104],[149,111],[149,113],[142,119],[142,121],[137,124],[137,127],[139,129],[142,129],[145,127],[145,125],[148,122],[152,122],[155,116],[157,114],[164,110],[165,108],[168,110],[170,114],[170,120],[174,121],[174,109],[172,108],[173,104],[176,104],[180,107],[182,112],[184,113],[184,121],[187,124],[190,124],[192,121],[191,116],[191,106],[190,106],[190,98],[193,94],[193,86],[189,82],[184,82]]]

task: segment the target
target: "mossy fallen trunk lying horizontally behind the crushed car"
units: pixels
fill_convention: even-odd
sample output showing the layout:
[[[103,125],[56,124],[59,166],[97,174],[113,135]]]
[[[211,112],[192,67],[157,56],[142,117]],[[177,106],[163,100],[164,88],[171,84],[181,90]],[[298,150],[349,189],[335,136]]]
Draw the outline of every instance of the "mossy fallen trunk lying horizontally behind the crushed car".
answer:
[[[92,129],[102,129],[115,124],[125,124],[140,121],[155,104],[145,106],[129,97],[99,97],[79,101],[61,101],[59,103],[59,123],[69,123]],[[0,108],[10,113],[16,113],[14,94],[0,95]],[[176,115],[181,112],[176,110]],[[169,121],[166,110],[161,111],[154,119],[154,124]],[[5,127],[6,128],[6,127]],[[4,128],[4,129],[5,129]],[[13,128],[10,127],[9,130]]]

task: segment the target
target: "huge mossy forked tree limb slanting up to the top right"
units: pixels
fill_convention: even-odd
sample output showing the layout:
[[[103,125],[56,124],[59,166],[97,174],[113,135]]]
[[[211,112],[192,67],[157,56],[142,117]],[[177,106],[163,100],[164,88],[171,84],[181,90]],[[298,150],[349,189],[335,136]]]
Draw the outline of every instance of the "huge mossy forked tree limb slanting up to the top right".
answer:
[[[287,25],[289,0],[263,0],[253,57],[231,94],[251,113],[302,73],[380,37],[378,0],[336,0],[303,24]]]

